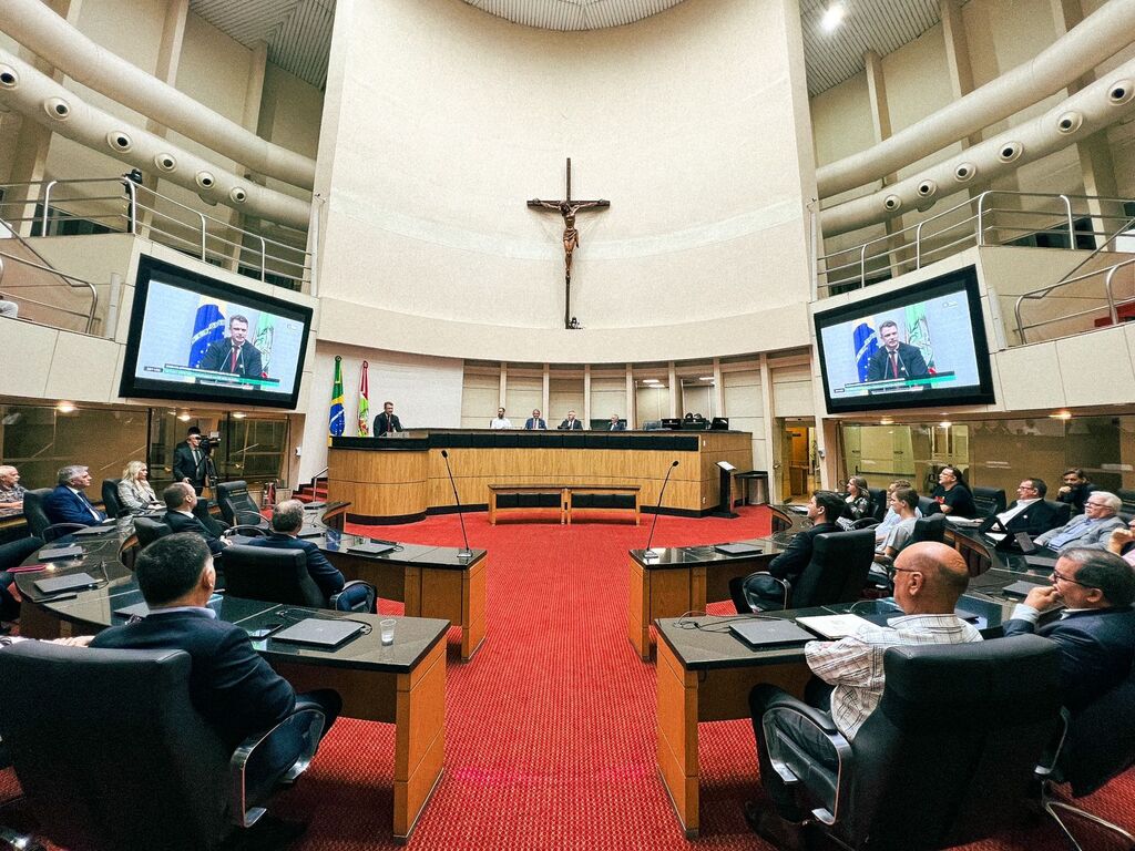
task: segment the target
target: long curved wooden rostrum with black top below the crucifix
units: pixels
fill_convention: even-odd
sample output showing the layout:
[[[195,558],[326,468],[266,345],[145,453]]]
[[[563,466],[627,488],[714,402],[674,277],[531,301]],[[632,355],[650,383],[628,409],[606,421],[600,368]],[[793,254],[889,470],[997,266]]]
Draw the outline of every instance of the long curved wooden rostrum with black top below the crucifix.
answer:
[[[403,523],[456,506],[442,450],[449,453],[461,504],[484,511],[489,485],[637,485],[653,506],[675,460],[663,509],[700,516],[717,507],[728,461],[753,466],[747,431],[491,431],[421,429],[400,437],[337,437],[327,454],[327,491],[352,504],[348,520]]]

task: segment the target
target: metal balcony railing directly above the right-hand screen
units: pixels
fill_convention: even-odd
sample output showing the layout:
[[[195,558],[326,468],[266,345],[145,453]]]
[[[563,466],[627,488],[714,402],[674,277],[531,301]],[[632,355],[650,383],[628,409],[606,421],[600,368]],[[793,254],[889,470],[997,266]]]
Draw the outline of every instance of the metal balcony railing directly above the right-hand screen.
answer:
[[[1039,199],[1048,199],[1048,200],[1057,200],[1057,201],[1059,201],[1060,204],[1061,204],[1061,207],[1062,207],[1062,213],[1060,214],[1060,222],[1068,230],[1069,245],[1071,245],[1071,246],[1075,246],[1075,244],[1076,244],[1076,237],[1079,234],[1093,235],[1093,236],[1102,235],[1102,233],[1098,233],[1094,229],[1092,229],[1092,230],[1077,230],[1076,229],[1076,222],[1075,222],[1076,212],[1074,211],[1074,208],[1073,208],[1073,202],[1074,201],[1094,201],[1094,202],[1115,202],[1115,203],[1123,203],[1123,202],[1129,201],[1129,199],[1109,197],[1109,196],[1102,196],[1102,195],[1075,195],[1075,194],[1069,194],[1069,193],[1056,194],[1056,193],[1042,193],[1042,192],[1016,192],[1016,191],[1010,191],[1010,189],[986,189],[986,191],[982,192],[981,194],[976,195],[975,197],[967,199],[967,200],[965,200],[965,201],[962,201],[962,202],[960,202],[958,204],[955,204],[953,207],[950,207],[950,208],[948,208],[948,209],[945,209],[945,210],[943,210],[943,211],[941,211],[939,213],[935,213],[934,216],[931,216],[931,217],[928,217],[926,219],[923,219],[922,221],[916,222],[915,225],[908,225],[907,227],[902,228],[901,230],[896,230],[894,233],[886,234],[884,236],[874,237],[872,239],[867,239],[866,242],[859,244],[858,246],[850,247],[850,248],[841,248],[839,251],[834,251],[834,252],[831,252],[830,254],[824,254],[824,255],[817,258],[817,261],[816,261],[816,263],[817,263],[817,277],[819,275],[822,275],[824,277],[824,279],[825,279],[825,281],[823,284],[817,284],[817,287],[830,288],[830,287],[833,287],[833,286],[844,286],[844,285],[848,285],[848,284],[854,284],[854,281],[855,281],[854,278],[844,279],[844,280],[835,280],[835,281],[831,280],[831,278],[832,278],[833,273],[851,269],[851,268],[854,268],[856,266],[859,267],[859,286],[860,287],[866,286],[867,261],[868,260],[878,260],[881,258],[894,256],[894,260],[892,262],[902,263],[902,264],[909,264],[911,262],[909,259],[900,259],[897,255],[900,255],[902,252],[908,252],[911,248],[913,248],[913,251],[915,253],[915,256],[914,256],[914,268],[915,269],[920,269],[926,256],[928,256],[931,254],[934,254],[934,253],[940,253],[942,251],[942,247],[943,247],[943,246],[925,247],[924,246],[924,241],[925,239],[930,238],[930,236],[941,237],[943,234],[947,234],[950,230],[953,230],[953,229],[960,228],[960,227],[966,227],[966,226],[968,226],[970,224],[975,225],[973,231],[969,233],[969,234],[967,234],[964,238],[959,238],[959,239],[952,241],[951,243],[948,244],[947,247],[952,247],[955,245],[959,245],[959,244],[968,242],[970,239],[974,241],[974,243],[976,245],[978,245],[978,246],[987,245],[987,244],[990,244],[989,243],[989,233],[992,231],[992,230],[1015,230],[1015,231],[1020,231],[1024,235],[1028,235],[1029,233],[1042,233],[1041,230],[1036,230],[1036,229],[1032,229],[1031,230],[1028,228],[1020,228],[1020,227],[1011,227],[1011,226],[997,227],[997,226],[993,226],[993,225],[991,225],[989,222],[989,219],[994,213],[1011,213],[1014,216],[1023,216],[1023,217],[1028,217],[1028,216],[1032,216],[1032,217],[1035,217],[1035,216],[1051,217],[1053,214],[1053,212],[1051,210],[1024,210],[1024,209],[1022,209],[1022,210],[1015,210],[1015,209],[1010,209],[1010,208],[991,207],[990,205],[990,200],[993,199],[993,197],[995,197],[995,196],[1022,197],[1022,199],[1025,199],[1025,197],[1039,197]],[[973,208],[975,203],[976,203],[976,211],[973,212],[972,214],[967,216],[961,221],[949,224],[948,226],[943,227],[941,230],[935,230],[931,235],[925,235],[925,231],[934,222],[941,221],[943,218],[945,218],[945,217],[948,217],[948,216],[950,216],[952,213],[956,213],[958,210],[960,210],[962,208]],[[1092,213],[1090,211],[1085,211],[1082,214],[1084,217],[1090,217],[1092,219],[1116,220],[1116,221],[1124,220],[1124,221],[1126,221],[1126,219],[1124,217],[1113,216],[1113,214],[1107,214],[1107,213]],[[905,236],[909,236],[909,235],[911,235],[911,233],[913,233],[913,236],[914,236],[914,243],[913,243],[913,245],[911,245],[911,243],[909,243],[909,242],[907,242],[907,241],[903,239]],[[1123,230],[1120,230],[1119,233],[1123,233]],[[901,242],[901,244],[897,245],[894,247],[891,247],[891,245],[893,245],[896,242]],[[873,246],[875,246],[875,245],[877,245],[880,243],[886,243],[888,244],[888,246],[884,248],[884,251],[882,251],[882,252],[880,252],[877,254],[868,255],[867,252]],[[1107,243],[1104,245],[1107,245]],[[1101,246],[1101,248],[1103,246]],[[858,258],[855,258],[855,254],[858,254]],[[847,262],[841,262],[841,263],[839,263],[836,266],[832,266],[832,267],[827,266],[829,261],[834,260],[835,258],[843,256],[843,255],[851,255],[854,259],[848,260]],[[818,271],[818,269],[821,268],[821,264],[823,264],[823,271],[822,272]]]

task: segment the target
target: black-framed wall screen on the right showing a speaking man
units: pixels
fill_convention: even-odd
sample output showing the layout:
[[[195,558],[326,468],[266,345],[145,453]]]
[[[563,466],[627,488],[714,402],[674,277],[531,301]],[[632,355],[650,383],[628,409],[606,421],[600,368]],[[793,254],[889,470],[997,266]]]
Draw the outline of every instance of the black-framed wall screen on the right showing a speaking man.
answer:
[[[829,413],[994,401],[974,267],[814,318]]]

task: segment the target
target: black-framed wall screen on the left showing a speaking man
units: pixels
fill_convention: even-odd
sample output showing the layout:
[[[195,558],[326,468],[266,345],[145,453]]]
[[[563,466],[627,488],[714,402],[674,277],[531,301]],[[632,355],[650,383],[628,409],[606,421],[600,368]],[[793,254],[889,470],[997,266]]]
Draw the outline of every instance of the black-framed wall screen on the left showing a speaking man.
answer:
[[[295,407],[311,313],[143,256],[118,393]]]

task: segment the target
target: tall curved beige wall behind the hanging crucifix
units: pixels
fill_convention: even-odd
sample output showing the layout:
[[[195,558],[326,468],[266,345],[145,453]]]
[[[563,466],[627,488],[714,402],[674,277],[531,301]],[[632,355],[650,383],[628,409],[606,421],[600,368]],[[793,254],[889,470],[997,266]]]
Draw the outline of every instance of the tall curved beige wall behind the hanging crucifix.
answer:
[[[536,362],[806,344],[798,27],[792,0],[687,0],[574,34],[460,0],[340,0],[323,339]],[[566,157],[572,194],[612,202],[579,218],[572,332],[562,220],[524,203],[562,196]]]

